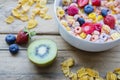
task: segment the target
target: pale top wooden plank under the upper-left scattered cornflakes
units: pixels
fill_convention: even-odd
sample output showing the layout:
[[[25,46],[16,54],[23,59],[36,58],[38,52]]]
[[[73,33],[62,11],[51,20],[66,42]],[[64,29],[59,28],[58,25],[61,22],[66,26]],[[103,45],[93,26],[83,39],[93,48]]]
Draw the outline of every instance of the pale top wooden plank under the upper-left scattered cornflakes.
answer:
[[[17,33],[20,29],[27,26],[27,22],[15,20],[14,23],[8,25],[5,22],[7,16],[11,14],[11,10],[16,6],[18,0],[1,0],[0,4],[0,33]],[[49,1],[50,2],[50,1]],[[51,1],[52,2],[52,1]],[[33,29],[40,34],[59,34],[56,21],[54,20],[53,2],[47,5],[48,14],[52,16],[51,20],[43,20],[39,16],[36,17],[38,26]]]

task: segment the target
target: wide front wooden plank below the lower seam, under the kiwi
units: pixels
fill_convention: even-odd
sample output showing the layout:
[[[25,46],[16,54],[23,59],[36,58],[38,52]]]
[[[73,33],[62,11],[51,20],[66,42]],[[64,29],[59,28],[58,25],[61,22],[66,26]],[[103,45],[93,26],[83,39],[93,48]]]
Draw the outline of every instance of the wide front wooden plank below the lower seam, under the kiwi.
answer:
[[[71,68],[74,72],[81,67],[89,67],[99,71],[101,76],[105,76],[106,72],[120,66],[119,52],[92,54],[81,51],[58,51],[53,65],[48,68],[40,68],[28,60],[24,50],[21,50],[16,56],[3,50],[0,51],[0,79],[66,80],[60,70],[60,63],[70,57],[75,59],[75,66]]]

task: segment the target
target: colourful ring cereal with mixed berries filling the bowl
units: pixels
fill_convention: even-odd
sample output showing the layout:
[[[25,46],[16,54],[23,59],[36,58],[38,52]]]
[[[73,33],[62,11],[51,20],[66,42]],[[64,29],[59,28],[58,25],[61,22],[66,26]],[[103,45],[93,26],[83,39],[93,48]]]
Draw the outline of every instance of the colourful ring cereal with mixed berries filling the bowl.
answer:
[[[120,38],[119,3],[119,0],[62,0],[57,16],[72,35],[95,43],[109,42]]]

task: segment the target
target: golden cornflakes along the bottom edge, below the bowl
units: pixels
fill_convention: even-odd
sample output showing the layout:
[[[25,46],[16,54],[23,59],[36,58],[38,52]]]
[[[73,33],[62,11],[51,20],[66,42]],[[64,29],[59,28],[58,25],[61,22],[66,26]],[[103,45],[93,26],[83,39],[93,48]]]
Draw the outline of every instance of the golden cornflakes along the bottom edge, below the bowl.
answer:
[[[106,79],[100,77],[96,70],[90,68],[80,68],[76,73],[70,70],[70,67],[74,65],[74,60],[69,58],[61,63],[62,72],[71,80],[120,80],[120,68],[115,69],[113,72],[108,72]]]

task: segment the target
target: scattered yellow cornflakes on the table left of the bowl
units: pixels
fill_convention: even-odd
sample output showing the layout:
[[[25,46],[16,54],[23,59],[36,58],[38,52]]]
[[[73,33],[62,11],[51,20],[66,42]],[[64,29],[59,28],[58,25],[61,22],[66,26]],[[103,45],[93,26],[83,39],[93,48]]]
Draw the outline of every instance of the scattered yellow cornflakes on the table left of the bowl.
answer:
[[[5,21],[8,24],[14,22],[15,18],[21,21],[28,21],[28,29],[32,29],[37,26],[38,22],[35,20],[35,16],[39,15],[42,19],[48,20],[52,17],[47,14],[48,7],[46,6],[47,0],[19,0],[17,6],[12,10],[10,15]],[[34,8],[30,10],[33,6]],[[31,15],[28,16],[28,12],[31,11]]]

